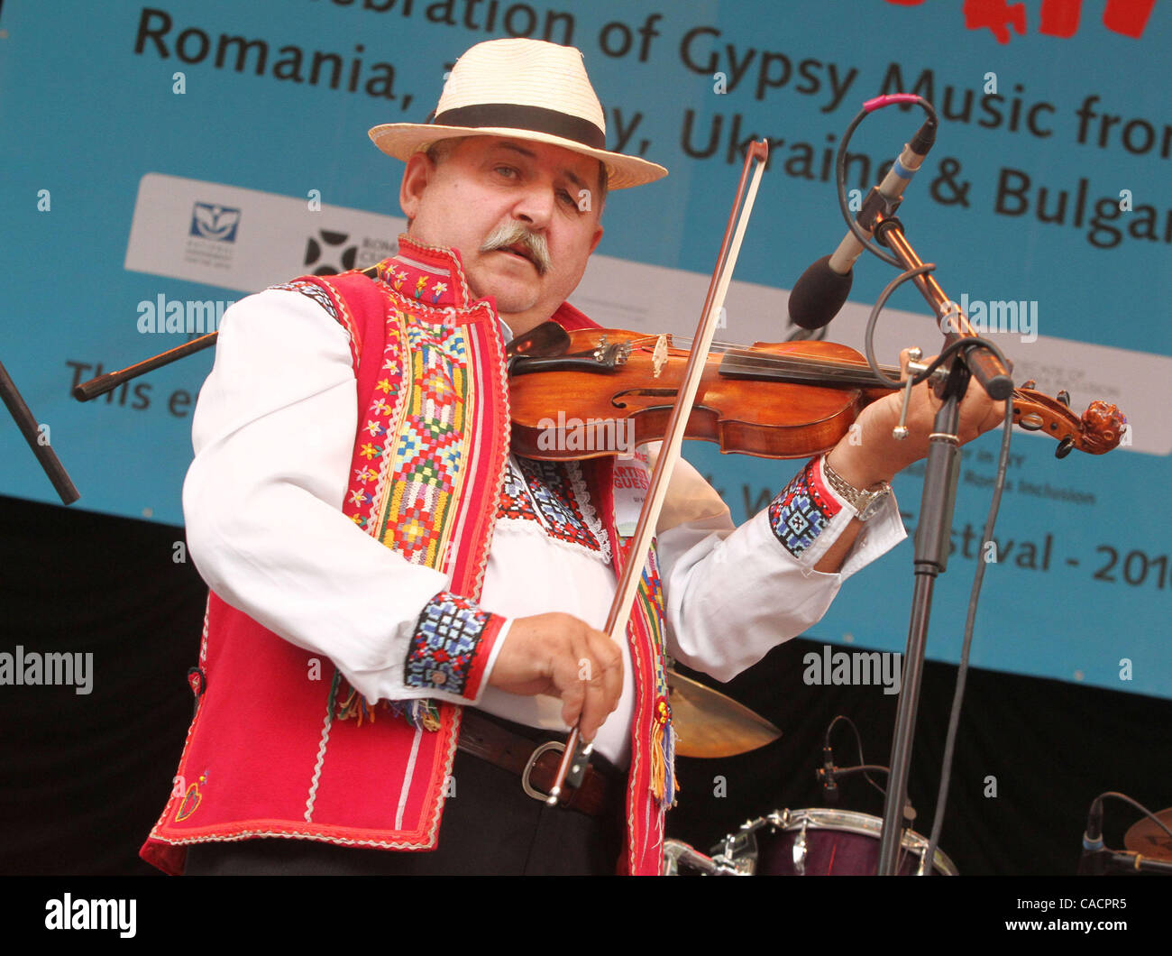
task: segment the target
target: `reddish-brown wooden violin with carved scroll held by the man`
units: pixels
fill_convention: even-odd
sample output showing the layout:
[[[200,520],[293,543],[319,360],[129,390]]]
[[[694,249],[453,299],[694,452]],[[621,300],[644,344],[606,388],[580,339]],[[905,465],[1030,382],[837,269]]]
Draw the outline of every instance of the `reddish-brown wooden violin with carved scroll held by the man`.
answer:
[[[538,326],[510,345],[513,450],[585,459],[662,439],[689,354],[666,334]],[[884,372],[899,377],[898,368]],[[1056,439],[1058,457],[1119,445],[1126,419],[1115,405],[1096,400],[1079,418],[1067,392],[1050,398],[1033,386],[1014,391],[1014,422]],[[722,452],[810,457],[833,448],[863,407],[891,391],[845,345],[722,346],[708,355],[684,436],[714,441]]]

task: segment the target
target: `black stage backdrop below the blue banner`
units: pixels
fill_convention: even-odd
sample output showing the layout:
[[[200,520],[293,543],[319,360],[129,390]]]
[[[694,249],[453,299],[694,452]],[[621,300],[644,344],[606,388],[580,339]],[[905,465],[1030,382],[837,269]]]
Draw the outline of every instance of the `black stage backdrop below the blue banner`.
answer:
[[[0,686],[0,873],[155,873],[137,852],[166,800],[191,717],[186,670],[206,594],[190,560],[176,561],[183,529],[0,497],[0,651],[94,655],[89,694]],[[790,642],[722,687],[784,737],[738,758],[681,759],[669,835],[708,850],[770,811],[825,806],[815,769],[836,714],[858,725],[867,762],[887,762],[895,697],[805,686],[803,655],[820,649]],[[955,667],[927,665],[909,784],[925,836],[954,678]],[[839,765],[858,762],[843,724],[833,744]],[[1172,701],[973,671],[941,847],[962,874],[1074,873],[1096,794],[1123,791],[1151,809],[1172,804],[1170,753]],[[990,777],[995,796],[986,795]],[[843,784],[838,806],[883,812],[860,778]],[[1122,848],[1136,816],[1109,804],[1109,846]]]

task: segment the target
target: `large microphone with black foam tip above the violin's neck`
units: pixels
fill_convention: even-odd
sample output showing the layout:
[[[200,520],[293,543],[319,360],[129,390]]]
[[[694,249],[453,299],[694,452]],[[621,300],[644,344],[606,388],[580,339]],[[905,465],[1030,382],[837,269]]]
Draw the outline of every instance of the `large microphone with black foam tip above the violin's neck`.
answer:
[[[919,171],[935,141],[936,123],[928,117],[879,183],[878,191],[883,198],[898,203],[904,197],[904,189]],[[866,235],[870,237],[870,231]],[[802,328],[822,328],[838,314],[851,292],[854,278],[852,266],[864,248],[853,232],[847,232],[832,255],[823,256],[802,273],[790,291],[791,323]]]

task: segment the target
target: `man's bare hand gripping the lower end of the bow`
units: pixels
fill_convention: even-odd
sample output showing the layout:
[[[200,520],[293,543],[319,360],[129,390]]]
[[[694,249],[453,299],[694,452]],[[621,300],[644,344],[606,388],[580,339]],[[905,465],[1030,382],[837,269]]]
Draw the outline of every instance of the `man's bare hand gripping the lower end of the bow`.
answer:
[[[497,653],[489,686],[509,693],[561,698],[561,719],[582,739],[619,705],[622,653],[602,631],[564,613],[519,617]]]

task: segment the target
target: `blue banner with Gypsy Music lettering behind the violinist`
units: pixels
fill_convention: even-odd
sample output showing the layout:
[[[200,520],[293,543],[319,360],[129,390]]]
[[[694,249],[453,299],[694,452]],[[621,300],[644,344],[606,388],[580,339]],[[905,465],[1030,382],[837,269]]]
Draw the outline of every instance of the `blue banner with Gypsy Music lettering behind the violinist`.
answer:
[[[847,123],[880,93],[932,100],[941,129],[900,211],[909,239],[1018,381],[1069,391],[1076,416],[1105,399],[1130,422],[1105,456],[1058,461],[1052,440],[1015,435],[974,662],[1172,696],[1167,4],[8,0],[0,215],[15,242],[0,360],[81,490],[74,507],[182,522],[211,352],[89,404],[71,387],[213,330],[250,291],[387,256],[402,167],[366,130],[423,121],[464,49],[510,35],[579,47],[608,147],[670,169],[611,198],[572,299],[616,327],[694,328],[756,136],[769,169],[721,338],[789,338],[785,291],[845,232],[833,155]],[[920,121],[890,108],[859,128],[856,197]],[[860,260],[830,338],[861,348],[893,274]],[[911,287],[880,326],[886,362],[901,346],[939,347]],[[955,659],[984,560],[997,441],[965,449],[932,621],[940,659]],[[0,427],[0,491],[55,501],[14,425]],[[795,468],[688,454],[738,520]],[[915,469],[895,489],[912,529]],[[909,594],[906,543],[847,583],[815,637],[901,650]]]

